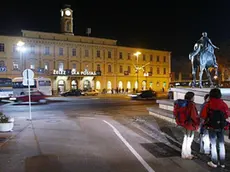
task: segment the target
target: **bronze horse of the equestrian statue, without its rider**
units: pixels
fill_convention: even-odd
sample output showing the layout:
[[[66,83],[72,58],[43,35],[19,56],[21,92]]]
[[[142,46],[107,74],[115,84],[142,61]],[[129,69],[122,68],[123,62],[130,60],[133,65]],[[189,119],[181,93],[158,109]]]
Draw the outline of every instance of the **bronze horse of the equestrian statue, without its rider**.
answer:
[[[195,87],[196,85],[196,72],[199,67],[200,72],[199,72],[199,87],[203,88],[202,84],[202,77],[203,77],[203,71],[205,70],[208,80],[210,82],[210,87],[214,87],[212,78],[211,78],[211,73],[209,71],[210,68],[214,68],[214,61],[213,61],[213,56],[214,56],[214,49],[212,46],[208,46],[207,50],[202,51],[203,45],[201,43],[196,43],[194,46],[194,51],[189,54],[189,60],[191,60],[192,64],[192,87]],[[215,68],[215,77],[217,77],[218,69]]]

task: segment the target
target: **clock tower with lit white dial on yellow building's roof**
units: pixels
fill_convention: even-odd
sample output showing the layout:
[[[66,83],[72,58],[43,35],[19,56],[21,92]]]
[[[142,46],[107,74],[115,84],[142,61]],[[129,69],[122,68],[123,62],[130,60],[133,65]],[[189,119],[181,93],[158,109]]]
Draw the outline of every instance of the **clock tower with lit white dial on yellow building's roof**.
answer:
[[[61,9],[61,32],[66,35],[73,34],[73,11],[70,9],[70,5],[65,5]]]

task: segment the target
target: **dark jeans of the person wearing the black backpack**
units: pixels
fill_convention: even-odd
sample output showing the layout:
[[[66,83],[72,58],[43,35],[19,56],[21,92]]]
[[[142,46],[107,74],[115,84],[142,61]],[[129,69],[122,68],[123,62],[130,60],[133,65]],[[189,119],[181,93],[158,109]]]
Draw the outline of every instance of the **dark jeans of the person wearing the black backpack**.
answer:
[[[209,138],[211,142],[211,160],[218,165],[218,157],[220,158],[220,165],[225,162],[225,146],[224,146],[224,130],[215,131],[209,130]],[[217,151],[217,147],[219,151]]]

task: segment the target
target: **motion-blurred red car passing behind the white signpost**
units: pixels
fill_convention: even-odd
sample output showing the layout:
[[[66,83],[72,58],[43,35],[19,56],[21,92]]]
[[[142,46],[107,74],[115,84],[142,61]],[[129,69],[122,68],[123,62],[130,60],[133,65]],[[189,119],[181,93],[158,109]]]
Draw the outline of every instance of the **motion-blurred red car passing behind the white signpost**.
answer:
[[[30,98],[31,98],[31,102],[39,102],[39,103],[46,103],[47,102],[46,95],[40,91],[30,92]],[[21,95],[21,96],[16,97],[16,101],[17,102],[29,102],[28,92],[26,93],[26,95]]]

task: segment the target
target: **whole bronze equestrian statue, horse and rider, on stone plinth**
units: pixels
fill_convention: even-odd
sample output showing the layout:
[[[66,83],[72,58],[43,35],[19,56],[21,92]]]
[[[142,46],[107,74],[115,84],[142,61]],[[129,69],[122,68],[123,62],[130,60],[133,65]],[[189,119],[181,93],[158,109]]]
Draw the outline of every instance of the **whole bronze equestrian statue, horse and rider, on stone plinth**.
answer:
[[[208,38],[207,33],[203,32],[202,37],[194,45],[194,51],[189,54],[189,60],[192,64],[192,87],[196,86],[196,72],[199,68],[199,87],[203,88],[202,76],[205,70],[208,80],[210,82],[210,87],[214,87],[212,82],[212,77],[210,73],[210,68],[214,68],[216,79],[218,77],[218,64],[216,62],[216,56],[214,54],[214,49],[219,49],[217,46],[213,45],[211,40]]]

